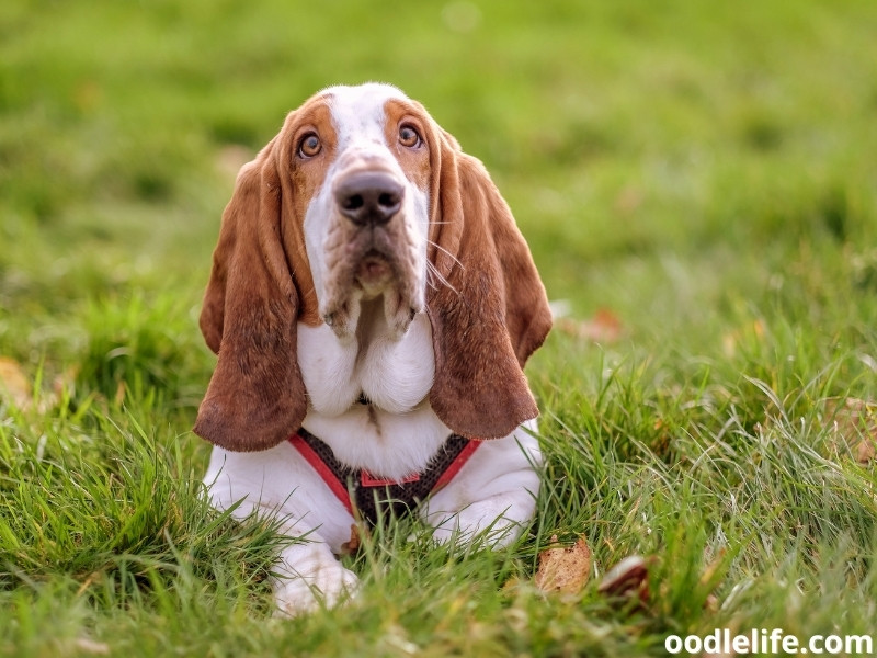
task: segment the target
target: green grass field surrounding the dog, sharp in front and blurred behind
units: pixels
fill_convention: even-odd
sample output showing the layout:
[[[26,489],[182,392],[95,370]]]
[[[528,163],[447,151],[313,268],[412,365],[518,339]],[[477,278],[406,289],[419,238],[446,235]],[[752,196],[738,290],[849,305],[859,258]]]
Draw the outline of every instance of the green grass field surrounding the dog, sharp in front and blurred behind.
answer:
[[[0,655],[877,635],[875,34],[866,0],[3,2]],[[509,551],[399,521],[358,600],[283,621],[283,537],[203,501],[196,319],[239,164],[369,79],[485,161],[569,305],[527,371],[544,487]],[[578,594],[534,586],[553,535]],[[597,591],[633,554],[641,606]]]

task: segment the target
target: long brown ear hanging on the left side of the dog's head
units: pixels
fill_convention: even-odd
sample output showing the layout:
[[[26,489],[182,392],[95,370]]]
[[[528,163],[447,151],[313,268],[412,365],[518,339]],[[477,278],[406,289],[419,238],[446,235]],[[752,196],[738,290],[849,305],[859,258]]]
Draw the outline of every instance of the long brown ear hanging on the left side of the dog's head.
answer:
[[[201,330],[219,359],[194,431],[234,451],[278,444],[307,411],[296,358],[298,294],[281,240],[277,144],[238,174],[201,311]]]

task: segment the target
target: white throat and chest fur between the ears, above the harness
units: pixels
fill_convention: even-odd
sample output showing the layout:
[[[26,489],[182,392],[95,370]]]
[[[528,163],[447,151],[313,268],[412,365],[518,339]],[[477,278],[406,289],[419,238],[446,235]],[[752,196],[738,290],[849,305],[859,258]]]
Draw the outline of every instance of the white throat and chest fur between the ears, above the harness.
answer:
[[[363,327],[342,341],[326,325],[299,324],[298,364],[309,402],[303,426],[343,463],[402,478],[421,470],[451,434],[428,400],[435,372],[430,321],[419,314],[398,340],[381,314]],[[361,404],[361,396],[371,404]]]

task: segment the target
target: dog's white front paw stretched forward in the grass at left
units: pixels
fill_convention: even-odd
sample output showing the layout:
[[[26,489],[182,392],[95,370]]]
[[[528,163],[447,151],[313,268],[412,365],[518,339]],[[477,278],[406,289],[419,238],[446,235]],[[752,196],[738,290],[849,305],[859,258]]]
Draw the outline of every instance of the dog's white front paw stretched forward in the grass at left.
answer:
[[[308,576],[274,579],[275,616],[297,616],[320,608],[334,608],[351,599],[358,587],[353,571],[323,566]]]

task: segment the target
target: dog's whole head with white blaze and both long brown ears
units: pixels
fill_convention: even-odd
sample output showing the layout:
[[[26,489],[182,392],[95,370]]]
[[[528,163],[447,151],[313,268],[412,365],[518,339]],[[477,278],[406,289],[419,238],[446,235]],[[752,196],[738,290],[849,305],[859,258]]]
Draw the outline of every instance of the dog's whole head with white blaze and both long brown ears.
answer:
[[[219,358],[195,432],[238,451],[288,438],[308,408],[297,322],[355,340],[380,298],[396,338],[429,314],[429,401],[454,432],[504,436],[537,415],[522,368],[550,313],[483,166],[396,88],[333,87],[238,174],[201,315]]]

